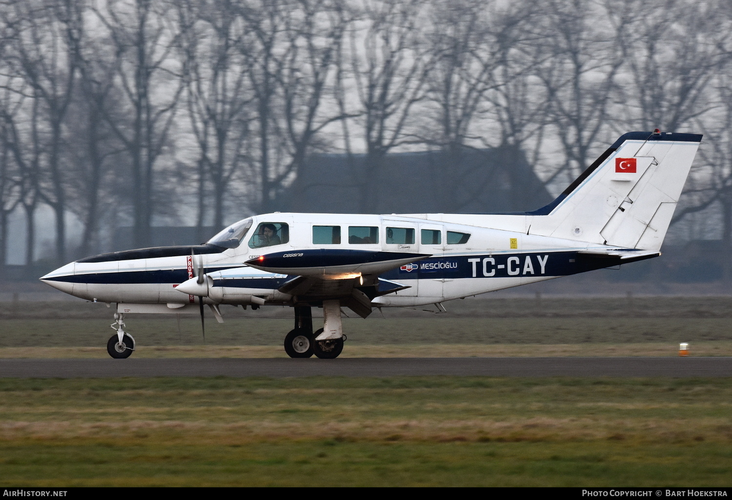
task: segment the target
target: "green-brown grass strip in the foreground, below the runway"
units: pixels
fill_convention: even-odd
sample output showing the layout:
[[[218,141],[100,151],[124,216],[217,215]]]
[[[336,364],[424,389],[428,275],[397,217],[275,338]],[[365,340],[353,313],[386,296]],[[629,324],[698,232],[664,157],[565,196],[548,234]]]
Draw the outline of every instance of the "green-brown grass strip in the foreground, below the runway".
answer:
[[[732,379],[1,379],[0,485],[729,485]]]

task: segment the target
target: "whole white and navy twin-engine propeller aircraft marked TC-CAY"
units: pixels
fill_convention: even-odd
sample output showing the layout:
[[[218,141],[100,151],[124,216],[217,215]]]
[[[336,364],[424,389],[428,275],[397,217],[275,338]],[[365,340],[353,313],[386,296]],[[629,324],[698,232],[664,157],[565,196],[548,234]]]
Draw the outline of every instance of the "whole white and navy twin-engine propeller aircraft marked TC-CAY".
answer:
[[[294,308],[291,357],[335,358],[341,308],[422,306],[614,267],[660,255],[701,135],[628,132],[559,197],[522,213],[354,215],[267,213],[199,246],[118,251],[41,279],[62,292],[116,303],[111,357],[128,357],[130,313],[203,306]],[[324,327],[313,332],[311,308]]]

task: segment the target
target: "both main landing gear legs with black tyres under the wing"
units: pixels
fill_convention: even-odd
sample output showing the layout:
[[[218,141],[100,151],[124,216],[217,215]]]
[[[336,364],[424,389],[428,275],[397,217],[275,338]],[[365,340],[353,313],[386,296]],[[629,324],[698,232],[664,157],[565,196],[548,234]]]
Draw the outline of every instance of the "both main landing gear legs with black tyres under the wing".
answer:
[[[343,352],[343,325],[340,302],[323,301],[325,325],[313,333],[313,313],[309,306],[295,307],[295,327],[285,336],[285,352],[289,357],[311,357],[332,360]]]

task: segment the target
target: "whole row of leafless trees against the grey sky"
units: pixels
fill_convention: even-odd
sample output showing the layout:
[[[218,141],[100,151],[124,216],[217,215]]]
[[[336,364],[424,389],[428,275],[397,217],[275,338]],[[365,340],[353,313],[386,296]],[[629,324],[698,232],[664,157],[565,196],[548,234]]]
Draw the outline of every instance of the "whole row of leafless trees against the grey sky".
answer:
[[[66,262],[96,251],[104,225],[131,222],[146,246],[156,217],[221,227],[276,210],[314,151],[365,154],[359,183],[393,151],[438,148],[460,162],[466,148],[510,145],[553,183],[619,133],[655,127],[706,134],[677,217],[719,203],[730,242],[728,7],[0,1],[0,262],[17,210],[34,261],[41,204]],[[359,202],[378,211],[368,193]],[[70,213],[84,227],[72,251]]]

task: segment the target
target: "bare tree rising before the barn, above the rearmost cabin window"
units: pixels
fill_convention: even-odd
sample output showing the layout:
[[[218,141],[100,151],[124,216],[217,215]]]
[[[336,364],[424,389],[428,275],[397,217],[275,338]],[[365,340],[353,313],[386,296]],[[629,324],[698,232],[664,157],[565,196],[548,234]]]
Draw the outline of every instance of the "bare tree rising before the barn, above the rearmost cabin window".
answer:
[[[531,70],[540,61],[541,34],[532,30],[536,16],[533,2],[432,3],[425,40],[434,61],[427,74],[427,106],[436,110],[422,136],[441,150],[433,175],[441,175],[441,195],[454,210],[474,200],[495,175],[515,170],[511,163],[523,161],[523,143],[541,131],[536,118],[545,110],[545,99],[531,85]],[[485,169],[484,162],[464,161],[466,155],[481,155],[481,145],[492,154],[498,148],[507,164],[480,176],[483,182],[466,185],[463,175]]]

